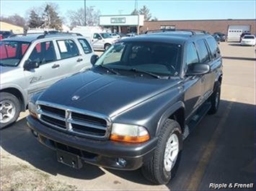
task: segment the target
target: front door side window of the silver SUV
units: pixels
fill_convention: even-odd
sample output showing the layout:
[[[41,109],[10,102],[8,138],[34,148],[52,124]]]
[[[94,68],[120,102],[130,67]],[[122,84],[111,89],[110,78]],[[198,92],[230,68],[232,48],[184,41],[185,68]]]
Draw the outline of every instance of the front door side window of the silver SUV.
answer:
[[[40,42],[35,45],[28,60],[38,62],[39,65],[57,60],[53,42]]]

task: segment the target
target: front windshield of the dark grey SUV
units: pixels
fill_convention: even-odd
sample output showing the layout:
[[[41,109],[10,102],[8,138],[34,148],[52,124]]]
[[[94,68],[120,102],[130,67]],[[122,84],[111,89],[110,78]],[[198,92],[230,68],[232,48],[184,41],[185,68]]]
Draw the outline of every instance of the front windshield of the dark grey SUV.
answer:
[[[159,42],[118,42],[97,60],[97,65],[123,71],[145,71],[176,76],[180,72],[181,45]]]

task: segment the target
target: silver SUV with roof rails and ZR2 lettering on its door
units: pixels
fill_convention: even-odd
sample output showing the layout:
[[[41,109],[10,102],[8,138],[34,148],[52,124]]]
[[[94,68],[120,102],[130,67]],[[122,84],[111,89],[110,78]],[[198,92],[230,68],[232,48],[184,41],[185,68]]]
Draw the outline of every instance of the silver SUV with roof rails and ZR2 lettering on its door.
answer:
[[[2,39],[0,127],[14,123],[19,112],[26,110],[33,94],[92,67],[93,54],[87,39],[71,34],[31,34]]]

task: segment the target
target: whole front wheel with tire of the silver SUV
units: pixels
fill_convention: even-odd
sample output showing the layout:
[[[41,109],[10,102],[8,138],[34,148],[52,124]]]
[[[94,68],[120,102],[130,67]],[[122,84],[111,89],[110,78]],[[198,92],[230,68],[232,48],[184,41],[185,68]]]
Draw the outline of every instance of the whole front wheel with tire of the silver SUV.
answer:
[[[21,106],[18,98],[6,92],[0,93],[0,129],[17,121]]]

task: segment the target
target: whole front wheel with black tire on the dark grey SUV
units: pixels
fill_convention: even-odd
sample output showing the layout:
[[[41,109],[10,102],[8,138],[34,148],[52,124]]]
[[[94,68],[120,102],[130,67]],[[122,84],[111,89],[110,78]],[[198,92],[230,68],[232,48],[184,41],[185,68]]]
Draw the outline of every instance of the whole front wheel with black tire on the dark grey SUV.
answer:
[[[162,126],[154,154],[142,167],[142,174],[156,185],[166,185],[177,172],[182,149],[182,131],[177,121],[167,119]]]

